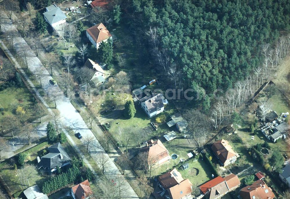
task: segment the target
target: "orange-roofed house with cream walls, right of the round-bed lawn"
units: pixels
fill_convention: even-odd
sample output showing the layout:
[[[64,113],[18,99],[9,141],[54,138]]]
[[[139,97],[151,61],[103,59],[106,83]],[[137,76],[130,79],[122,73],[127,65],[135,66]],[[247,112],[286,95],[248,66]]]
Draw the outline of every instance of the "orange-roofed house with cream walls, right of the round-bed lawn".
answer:
[[[238,158],[238,155],[233,151],[229,142],[224,139],[213,143],[211,150],[219,159],[220,164],[224,167],[234,163]]]

